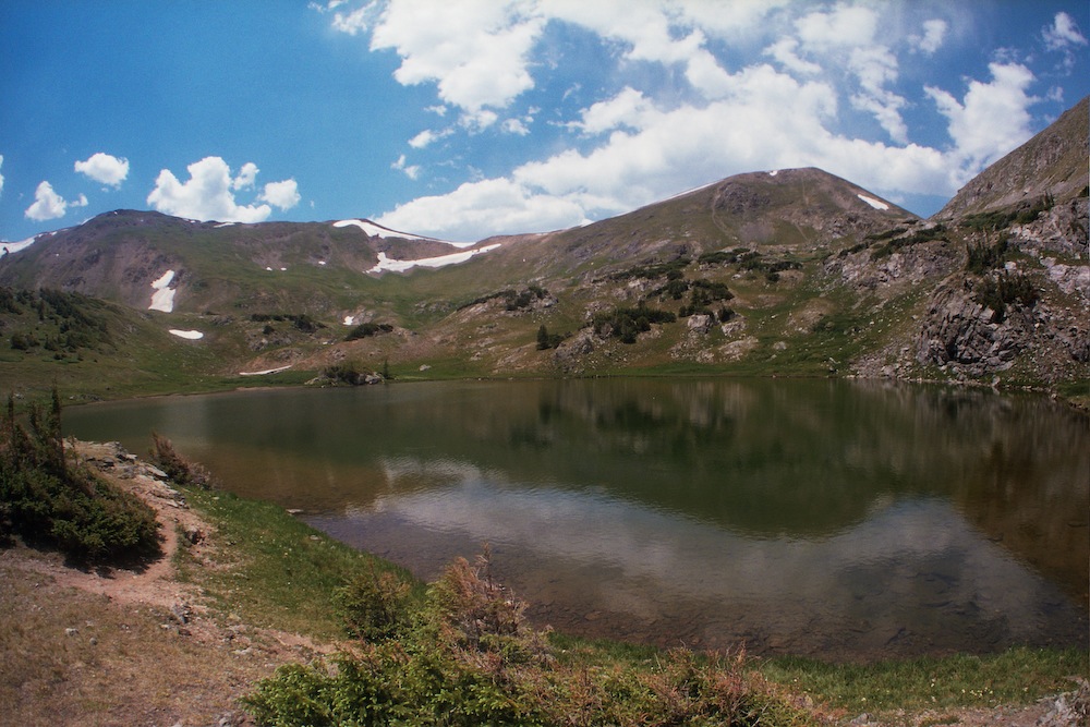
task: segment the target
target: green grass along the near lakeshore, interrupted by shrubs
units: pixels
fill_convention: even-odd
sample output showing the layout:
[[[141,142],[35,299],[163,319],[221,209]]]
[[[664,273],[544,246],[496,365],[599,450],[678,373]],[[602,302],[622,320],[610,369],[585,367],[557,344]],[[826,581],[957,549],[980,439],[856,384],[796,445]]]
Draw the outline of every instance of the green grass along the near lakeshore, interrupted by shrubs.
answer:
[[[278,506],[218,492],[186,489],[186,499],[219,530],[229,570],[202,569],[181,557],[183,577],[197,581],[218,608],[269,628],[318,639],[340,633],[332,592],[372,568],[405,578],[397,566],[361,553],[300,522]],[[414,597],[424,584],[414,582]],[[565,634],[554,644],[597,665],[652,662],[663,652]],[[1029,705],[1070,691],[1071,677],[1090,678],[1085,649],[1015,647],[985,655],[950,655],[875,664],[799,657],[751,658],[766,680],[836,713],[955,710]]]

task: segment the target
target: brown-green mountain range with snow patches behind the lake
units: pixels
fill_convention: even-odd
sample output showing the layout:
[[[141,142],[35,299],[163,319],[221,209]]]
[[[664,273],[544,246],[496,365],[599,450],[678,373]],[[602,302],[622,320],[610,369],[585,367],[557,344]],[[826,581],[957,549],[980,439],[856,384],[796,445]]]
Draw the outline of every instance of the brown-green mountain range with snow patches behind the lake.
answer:
[[[739,174],[584,227],[469,246],[365,219],[225,225],[119,210],[0,257],[17,308],[0,310],[0,335],[39,342],[0,347],[0,367],[40,381],[64,366],[94,396],[380,367],[1077,391],[1090,380],[1086,104],[930,220],[819,169]],[[106,332],[61,350],[82,324],[19,292],[37,289],[76,296],[48,293],[59,311],[109,301],[96,318]],[[125,389],[124,371],[138,385]],[[279,373],[240,377],[268,372]]]

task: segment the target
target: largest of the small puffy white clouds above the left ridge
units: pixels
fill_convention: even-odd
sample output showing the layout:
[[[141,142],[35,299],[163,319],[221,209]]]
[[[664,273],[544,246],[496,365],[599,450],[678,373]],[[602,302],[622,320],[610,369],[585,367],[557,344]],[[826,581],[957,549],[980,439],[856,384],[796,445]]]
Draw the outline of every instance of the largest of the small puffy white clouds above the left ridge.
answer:
[[[252,162],[243,165],[238,177],[231,175],[231,168],[220,157],[205,157],[186,170],[190,172],[186,182],[181,182],[169,169],[161,170],[147,203],[168,215],[225,222],[261,222],[272,213],[268,204],[241,205],[235,201],[235,191],[253,185],[257,168]],[[281,209],[294,206],[299,203],[295,181],[266,184],[257,201]]]

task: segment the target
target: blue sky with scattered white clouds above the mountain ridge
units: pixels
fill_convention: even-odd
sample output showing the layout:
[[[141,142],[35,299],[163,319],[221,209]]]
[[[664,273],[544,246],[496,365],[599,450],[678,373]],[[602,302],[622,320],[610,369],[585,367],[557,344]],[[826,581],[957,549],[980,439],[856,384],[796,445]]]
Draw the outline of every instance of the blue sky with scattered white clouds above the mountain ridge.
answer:
[[[816,166],[928,216],[1090,93],[1085,0],[4,0],[0,239],[457,241]]]

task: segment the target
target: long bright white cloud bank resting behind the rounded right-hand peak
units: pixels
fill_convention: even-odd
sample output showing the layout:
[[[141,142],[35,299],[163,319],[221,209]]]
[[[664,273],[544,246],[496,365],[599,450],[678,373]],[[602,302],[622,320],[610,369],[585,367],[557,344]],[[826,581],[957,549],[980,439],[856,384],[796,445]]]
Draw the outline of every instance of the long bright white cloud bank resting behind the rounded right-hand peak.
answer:
[[[935,149],[829,132],[836,96],[824,83],[802,84],[770,65],[727,78],[722,100],[676,109],[657,108],[625,89],[584,110],[580,129],[610,132],[590,152],[569,149],[524,163],[506,178],[414,199],[380,221],[461,239],[543,231],[627,211],[734,173],[792,166],[821,167],[876,192],[956,189],[949,159]]]

